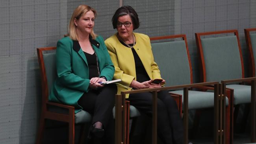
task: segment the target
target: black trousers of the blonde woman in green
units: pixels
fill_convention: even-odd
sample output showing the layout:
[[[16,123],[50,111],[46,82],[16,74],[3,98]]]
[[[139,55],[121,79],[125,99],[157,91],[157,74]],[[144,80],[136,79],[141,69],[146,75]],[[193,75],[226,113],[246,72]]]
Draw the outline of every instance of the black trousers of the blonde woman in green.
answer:
[[[104,141],[111,144],[114,137],[113,107],[117,86],[108,84],[97,90],[89,90],[78,100],[83,110],[92,114],[92,124],[101,122],[105,131]]]

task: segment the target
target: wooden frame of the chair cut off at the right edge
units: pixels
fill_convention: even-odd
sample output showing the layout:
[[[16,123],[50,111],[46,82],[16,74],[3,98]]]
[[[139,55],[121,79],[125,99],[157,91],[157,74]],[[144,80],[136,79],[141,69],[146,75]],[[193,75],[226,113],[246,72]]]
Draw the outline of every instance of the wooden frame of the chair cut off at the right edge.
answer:
[[[252,42],[250,39],[250,31],[256,32],[256,28],[248,28],[244,29],[245,31],[245,40],[247,47],[249,48],[249,76],[250,77],[255,77],[255,60],[254,60],[254,55],[253,55],[253,50],[252,50]]]

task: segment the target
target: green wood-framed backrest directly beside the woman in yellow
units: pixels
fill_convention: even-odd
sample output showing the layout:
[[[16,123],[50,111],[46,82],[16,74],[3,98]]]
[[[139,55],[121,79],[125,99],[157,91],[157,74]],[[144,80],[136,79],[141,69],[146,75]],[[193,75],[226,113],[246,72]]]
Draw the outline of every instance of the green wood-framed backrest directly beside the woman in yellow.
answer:
[[[152,37],[150,40],[165,40],[151,44],[154,61],[159,66],[161,77],[166,80],[165,86],[193,83],[186,35]]]

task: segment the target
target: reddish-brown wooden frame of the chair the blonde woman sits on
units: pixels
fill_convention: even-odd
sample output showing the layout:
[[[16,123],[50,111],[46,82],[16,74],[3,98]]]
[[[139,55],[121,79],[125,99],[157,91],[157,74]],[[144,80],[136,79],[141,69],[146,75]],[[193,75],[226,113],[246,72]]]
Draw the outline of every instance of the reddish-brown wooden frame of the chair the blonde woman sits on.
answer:
[[[45,127],[45,119],[57,120],[61,122],[69,123],[69,144],[75,142],[75,108],[70,105],[63,105],[61,103],[48,101],[48,83],[46,78],[45,63],[43,58],[44,51],[56,50],[56,47],[37,48],[37,56],[39,67],[41,71],[41,86],[42,86],[42,109],[39,122],[39,129],[37,131],[36,144],[41,144],[43,138],[43,132]],[[68,114],[56,113],[48,110],[48,106],[60,107],[67,109]],[[81,136],[85,135],[84,128],[82,129]],[[83,137],[80,137],[80,143],[83,143]]]

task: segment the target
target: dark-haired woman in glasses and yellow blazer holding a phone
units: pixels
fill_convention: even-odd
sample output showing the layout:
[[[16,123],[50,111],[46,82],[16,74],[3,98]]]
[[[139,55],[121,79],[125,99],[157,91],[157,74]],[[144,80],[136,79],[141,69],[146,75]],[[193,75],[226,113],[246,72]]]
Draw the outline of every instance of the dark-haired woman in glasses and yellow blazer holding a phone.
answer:
[[[162,79],[154,62],[150,39],[147,35],[134,33],[139,28],[139,18],[130,6],[117,9],[112,17],[117,33],[106,39],[105,44],[115,66],[113,79],[122,79],[122,85],[133,89],[158,88],[165,83],[152,83]],[[118,86],[118,92],[124,90]],[[152,115],[152,94],[130,94],[126,98],[142,113]],[[182,144],[183,126],[178,107],[167,91],[158,92],[158,135],[164,144]]]

